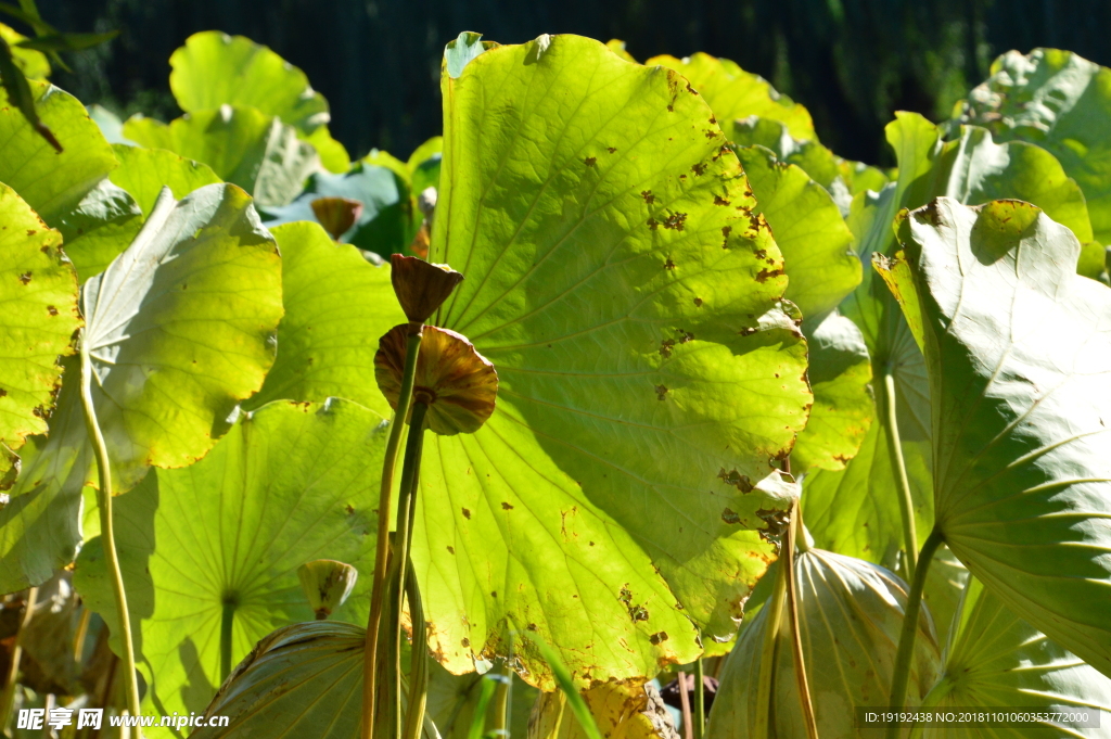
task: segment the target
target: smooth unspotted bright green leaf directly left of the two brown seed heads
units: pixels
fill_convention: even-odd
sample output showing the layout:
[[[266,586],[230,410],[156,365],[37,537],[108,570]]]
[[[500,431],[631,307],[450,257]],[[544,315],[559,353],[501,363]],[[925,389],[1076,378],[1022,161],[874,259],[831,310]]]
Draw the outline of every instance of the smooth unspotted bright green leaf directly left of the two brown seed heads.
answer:
[[[274,364],[244,407],[337,397],[389,415],[390,406],[371,379],[377,338],[406,322],[390,287],[389,266],[371,264],[317,223],[287,223],[273,234],[282,253],[286,314],[278,324]]]

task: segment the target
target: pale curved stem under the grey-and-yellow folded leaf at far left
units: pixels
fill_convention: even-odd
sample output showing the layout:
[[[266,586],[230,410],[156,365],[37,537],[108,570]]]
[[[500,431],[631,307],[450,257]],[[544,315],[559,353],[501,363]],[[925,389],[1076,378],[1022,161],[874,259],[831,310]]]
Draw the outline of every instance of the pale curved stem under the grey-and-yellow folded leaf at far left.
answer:
[[[116,596],[116,617],[120,622],[120,645],[123,648],[123,687],[127,692],[128,711],[139,716],[139,681],[136,679],[136,650],[131,636],[131,613],[128,611],[128,595],[123,588],[123,572],[120,570],[120,558],[116,550],[116,527],[112,520],[112,468],[108,457],[108,445],[97,421],[97,409],[92,402],[92,361],[89,358],[89,346],[82,337],[81,341],[81,403],[84,406],[84,426],[92,448],[97,453],[97,471],[100,477],[100,489],[97,491],[97,503],[100,508],[100,540],[104,550],[104,561],[108,563],[108,579]]]

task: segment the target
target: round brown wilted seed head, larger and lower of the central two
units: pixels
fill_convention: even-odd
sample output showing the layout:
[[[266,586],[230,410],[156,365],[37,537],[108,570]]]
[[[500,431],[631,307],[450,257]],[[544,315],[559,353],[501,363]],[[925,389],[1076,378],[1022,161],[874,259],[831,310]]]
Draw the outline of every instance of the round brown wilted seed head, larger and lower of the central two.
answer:
[[[379,342],[374,377],[397,410],[410,327],[394,326]],[[493,413],[498,372],[460,333],[429,326],[417,357],[413,402],[428,403],[428,428],[443,436],[474,433]]]

